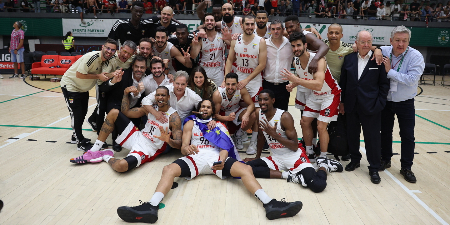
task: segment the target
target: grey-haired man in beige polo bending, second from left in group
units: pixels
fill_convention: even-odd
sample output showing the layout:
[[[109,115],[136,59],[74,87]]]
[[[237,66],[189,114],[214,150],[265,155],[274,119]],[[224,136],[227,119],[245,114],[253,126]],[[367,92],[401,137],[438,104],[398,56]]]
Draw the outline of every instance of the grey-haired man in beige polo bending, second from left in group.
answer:
[[[130,67],[130,63],[134,58],[131,58],[131,56],[135,54],[135,51],[136,44],[131,40],[126,40],[122,47],[120,47],[120,53],[116,52],[116,54],[103,63],[102,72],[108,72],[106,75],[108,77],[112,77],[114,72],[116,72],[116,76],[119,75],[122,69],[128,69],[128,67]],[[86,122],[91,126],[91,129],[97,131],[97,134],[99,133],[98,127],[102,127],[103,125],[105,112],[108,113],[110,110],[107,107],[108,103],[107,98],[105,97],[107,95],[106,91],[99,90],[102,83],[103,81],[99,80],[95,85],[97,106],[95,107],[94,112],[92,112],[92,115],[86,120]],[[120,93],[122,92],[123,91]],[[119,102],[121,102],[121,100],[122,99],[120,98]],[[120,151],[120,145],[113,142],[112,149]]]

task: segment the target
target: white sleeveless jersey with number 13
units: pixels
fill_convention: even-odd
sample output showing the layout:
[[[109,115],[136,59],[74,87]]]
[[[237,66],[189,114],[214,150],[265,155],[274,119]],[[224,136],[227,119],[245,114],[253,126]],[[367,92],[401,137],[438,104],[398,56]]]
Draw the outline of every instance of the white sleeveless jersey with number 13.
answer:
[[[253,40],[248,44],[244,45],[243,36],[240,35],[238,40],[236,40],[236,45],[234,45],[234,51],[236,52],[236,73],[239,76],[239,81],[247,78],[250,73],[258,66],[259,61],[259,42],[261,40],[260,36],[255,35]],[[258,74],[252,81],[248,82],[249,87],[261,87],[262,86],[262,72]]]

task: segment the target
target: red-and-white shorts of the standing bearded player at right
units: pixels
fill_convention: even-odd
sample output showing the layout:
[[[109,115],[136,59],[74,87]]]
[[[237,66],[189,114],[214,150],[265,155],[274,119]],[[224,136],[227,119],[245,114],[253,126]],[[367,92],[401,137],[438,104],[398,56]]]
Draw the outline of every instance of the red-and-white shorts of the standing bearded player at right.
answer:
[[[337,95],[330,94],[329,97],[319,98],[311,94],[306,99],[303,117],[317,118],[317,120],[329,123],[338,120],[339,103],[341,102],[341,93]]]

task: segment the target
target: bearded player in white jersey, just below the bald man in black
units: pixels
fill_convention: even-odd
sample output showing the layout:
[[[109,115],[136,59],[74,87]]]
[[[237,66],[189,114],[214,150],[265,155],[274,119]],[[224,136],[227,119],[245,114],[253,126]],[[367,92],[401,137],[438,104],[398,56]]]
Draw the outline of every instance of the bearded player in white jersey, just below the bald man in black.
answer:
[[[192,61],[191,61],[191,55],[188,52],[185,52],[184,49],[181,49],[183,54],[175,48],[175,46],[167,42],[167,37],[169,36],[169,33],[167,32],[166,27],[157,27],[156,28],[156,35],[155,35],[155,44],[153,44],[152,52],[157,57],[161,59],[168,59],[171,61],[172,58],[176,58],[180,63],[182,63],[185,67],[191,68],[192,67]],[[166,71],[168,71],[168,74],[175,74],[175,69],[173,66],[173,62],[168,62],[168,67],[166,67]]]

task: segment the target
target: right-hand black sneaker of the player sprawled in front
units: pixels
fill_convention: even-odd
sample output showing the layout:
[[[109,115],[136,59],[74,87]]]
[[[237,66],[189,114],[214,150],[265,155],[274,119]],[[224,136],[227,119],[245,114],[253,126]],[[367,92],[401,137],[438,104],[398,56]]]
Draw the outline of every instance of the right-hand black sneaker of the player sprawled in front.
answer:
[[[285,198],[277,201],[275,198],[267,204],[262,204],[266,208],[266,217],[275,220],[281,217],[292,217],[302,210],[302,202],[284,202]]]

